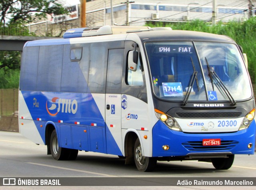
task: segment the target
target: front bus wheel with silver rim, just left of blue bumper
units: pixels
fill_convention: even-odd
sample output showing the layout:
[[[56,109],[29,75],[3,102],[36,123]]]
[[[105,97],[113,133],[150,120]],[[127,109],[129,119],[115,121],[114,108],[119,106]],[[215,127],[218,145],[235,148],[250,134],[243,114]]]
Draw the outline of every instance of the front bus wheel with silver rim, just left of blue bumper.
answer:
[[[156,166],[156,158],[146,157],[142,154],[142,149],[140,146],[140,140],[137,139],[134,144],[134,161],[136,167],[140,172],[150,172]]]

